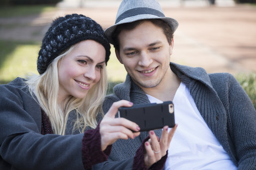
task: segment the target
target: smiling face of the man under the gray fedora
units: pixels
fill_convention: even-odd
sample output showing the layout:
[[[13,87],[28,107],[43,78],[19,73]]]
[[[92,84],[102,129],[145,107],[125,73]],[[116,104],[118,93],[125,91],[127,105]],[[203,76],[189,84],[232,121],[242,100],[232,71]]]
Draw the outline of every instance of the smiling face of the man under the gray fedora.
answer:
[[[138,86],[154,88],[164,83],[171,74],[173,39],[170,45],[162,28],[145,21],[133,30],[122,30],[118,39],[116,56]]]

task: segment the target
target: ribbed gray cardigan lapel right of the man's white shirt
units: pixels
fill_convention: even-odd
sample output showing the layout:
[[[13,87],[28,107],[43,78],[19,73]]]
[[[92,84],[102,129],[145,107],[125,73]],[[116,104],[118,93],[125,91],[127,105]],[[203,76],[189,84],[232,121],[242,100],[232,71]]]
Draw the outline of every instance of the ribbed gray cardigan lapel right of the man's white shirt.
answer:
[[[211,79],[200,67],[188,67],[170,63],[172,71],[188,87],[198,111],[222,146],[230,147],[227,134],[227,113]]]

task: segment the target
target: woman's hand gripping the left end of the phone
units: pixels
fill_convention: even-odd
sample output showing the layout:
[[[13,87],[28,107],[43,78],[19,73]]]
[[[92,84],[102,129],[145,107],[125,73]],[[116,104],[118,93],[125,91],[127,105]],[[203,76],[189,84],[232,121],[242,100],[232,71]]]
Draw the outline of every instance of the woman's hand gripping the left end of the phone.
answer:
[[[113,144],[117,139],[134,139],[140,132],[138,124],[126,118],[115,118],[119,107],[131,107],[133,104],[127,100],[120,100],[113,103],[107,114],[100,122],[101,150]],[[135,131],[134,133],[131,131]]]

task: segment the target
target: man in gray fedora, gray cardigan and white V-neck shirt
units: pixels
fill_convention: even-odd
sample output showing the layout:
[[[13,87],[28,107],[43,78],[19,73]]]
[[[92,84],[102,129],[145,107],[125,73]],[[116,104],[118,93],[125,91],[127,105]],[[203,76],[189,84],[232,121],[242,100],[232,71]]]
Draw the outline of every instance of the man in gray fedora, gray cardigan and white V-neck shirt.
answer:
[[[154,0],[124,0],[105,33],[127,71],[106,98],[105,111],[121,99],[134,104],[172,100],[179,124],[165,169],[256,169],[256,112],[228,73],[170,63],[178,22]],[[162,130],[155,133],[160,136]],[[131,169],[135,150],[148,132],[118,140],[110,159],[97,168]]]

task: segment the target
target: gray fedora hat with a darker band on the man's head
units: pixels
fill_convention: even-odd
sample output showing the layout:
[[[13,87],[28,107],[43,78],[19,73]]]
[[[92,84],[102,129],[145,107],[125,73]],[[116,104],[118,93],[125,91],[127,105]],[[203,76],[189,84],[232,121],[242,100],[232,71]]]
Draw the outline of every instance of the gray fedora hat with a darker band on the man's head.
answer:
[[[105,30],[109,43],[113,44],[111,36],[117,25],[145,19],[164,20],[169,23],[173,32],[179,25],[175,19],[165,17],[162,7],[156,0],[123,0],[118,8],[115,24]]]

